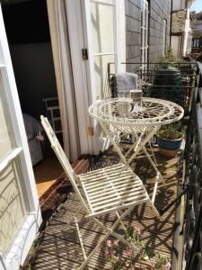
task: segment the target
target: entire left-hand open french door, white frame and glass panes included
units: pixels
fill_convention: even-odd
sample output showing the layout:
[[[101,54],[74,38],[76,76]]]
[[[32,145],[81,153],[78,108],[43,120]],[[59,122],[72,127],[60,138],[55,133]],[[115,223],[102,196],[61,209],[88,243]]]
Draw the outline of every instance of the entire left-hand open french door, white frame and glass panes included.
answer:
[[[19,269],[41,222],[0,7],[0,269]]]

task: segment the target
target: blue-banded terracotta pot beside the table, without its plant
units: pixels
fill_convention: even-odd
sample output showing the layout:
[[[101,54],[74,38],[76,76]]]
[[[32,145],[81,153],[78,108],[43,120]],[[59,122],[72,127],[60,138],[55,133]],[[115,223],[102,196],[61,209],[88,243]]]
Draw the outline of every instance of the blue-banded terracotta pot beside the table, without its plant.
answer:
[[[180,139],[164,139],[157,136],[157,143],[159,147],[159,153],[163,157],[175,157],[180,150],[183,136]]]

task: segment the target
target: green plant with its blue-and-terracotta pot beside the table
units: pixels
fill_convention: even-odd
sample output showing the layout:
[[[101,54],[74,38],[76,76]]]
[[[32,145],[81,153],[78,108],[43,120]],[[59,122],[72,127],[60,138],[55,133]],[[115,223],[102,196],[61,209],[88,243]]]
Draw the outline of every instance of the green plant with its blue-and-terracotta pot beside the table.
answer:
[[[163,157],[174,157],[180,149],[183,139],[181,132],[176,125],[165,126],[157,134],[159,153]]]

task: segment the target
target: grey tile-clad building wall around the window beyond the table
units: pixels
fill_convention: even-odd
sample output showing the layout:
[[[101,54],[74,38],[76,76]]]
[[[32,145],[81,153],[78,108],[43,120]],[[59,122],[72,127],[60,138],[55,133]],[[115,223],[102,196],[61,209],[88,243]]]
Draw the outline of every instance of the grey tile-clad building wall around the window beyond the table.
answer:
[[[142,0],[125,0],[126,61],[141,62],[141,6]],[[163,48],[163,20],[166,20],[166,47],[170,43],[171,0],[150,0],[148,15],[148,61],[156,62]],[[127,71],[135,71],[138,64],[127,64]]]

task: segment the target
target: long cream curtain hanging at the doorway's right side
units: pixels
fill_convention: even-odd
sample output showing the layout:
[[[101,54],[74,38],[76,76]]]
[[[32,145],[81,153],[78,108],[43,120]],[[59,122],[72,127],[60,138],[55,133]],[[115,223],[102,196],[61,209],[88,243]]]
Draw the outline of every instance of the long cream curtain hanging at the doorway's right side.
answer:
[[[75,161],[80,155],[80,146],[68,42],[66,0],[47,0],[47,6],[64,149],[67,157]]]

